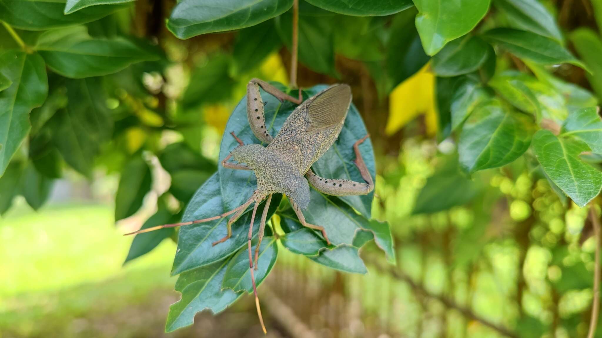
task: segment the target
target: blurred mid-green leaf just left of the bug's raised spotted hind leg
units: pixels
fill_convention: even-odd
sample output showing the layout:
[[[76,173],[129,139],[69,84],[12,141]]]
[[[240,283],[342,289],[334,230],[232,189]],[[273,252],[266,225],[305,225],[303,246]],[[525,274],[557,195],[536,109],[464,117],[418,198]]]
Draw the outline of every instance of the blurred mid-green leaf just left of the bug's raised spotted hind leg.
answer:
[[[228,75],[230,56],[216,54],[208,62],[199,64],[190,76],[190,83],[182,97],[182,108],[198,108],[203,103],[215,103],[229,99],[234,80]],[[194,112],[195,115],[198,112]]]

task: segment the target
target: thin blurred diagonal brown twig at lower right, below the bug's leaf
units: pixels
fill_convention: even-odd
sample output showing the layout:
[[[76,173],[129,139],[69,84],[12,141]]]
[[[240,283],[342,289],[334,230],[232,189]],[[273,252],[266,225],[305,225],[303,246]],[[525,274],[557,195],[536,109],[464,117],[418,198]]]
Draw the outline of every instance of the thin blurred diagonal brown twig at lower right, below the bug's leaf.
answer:
[[[452,301],[452,300],[448,299],[447,297],[443,297],[441,295],[434,295],[433,293],[430,293],[429,291],[424,289],[424,286],[416,283],[414,280],[412,280],[412,278],[410,278],[408,275],[406,275],[405,273],[400,271],[400,269],[397,268],[396,266],[385,265],[383,263],[379,263],[379,261],[376,259],[374,259],[374,260],[370,259],[370,260],[368,260],[368,262],[371,263],[372,265],[376,266],[376,268],[379,269],[379,271],[389,274],[389,275],[393,276],[393,278],[396,278],[397,280],[405,281],[406,283],[409,284],[409,286],[412,287],[412,289],[414,289],[415,292],[420,292],[423,295],[425,295],[426,297],[433,298],[435,300],[440,301],[448,309],[455,309],[458,312],[462,313],[462,315],[466,316],[467,318],[470,318],[470,319],[473,319],[474,321],[480,322],[481,324],[485,325],[486,327],[491,328],[494,331],[497,331],[498,333],[502,334],[503,336],[511,337],[511,338],[518,338],[517,334],[509,331],[507,328],[501,327],[500,325],[494,324],[494,323],[488,321],[487,319],[476,315],[476,313],[472,312],[470,309],[467,309],[466,307],[463,307],[463,306],[459,306],[458,304],[455,303],[455,301]]]

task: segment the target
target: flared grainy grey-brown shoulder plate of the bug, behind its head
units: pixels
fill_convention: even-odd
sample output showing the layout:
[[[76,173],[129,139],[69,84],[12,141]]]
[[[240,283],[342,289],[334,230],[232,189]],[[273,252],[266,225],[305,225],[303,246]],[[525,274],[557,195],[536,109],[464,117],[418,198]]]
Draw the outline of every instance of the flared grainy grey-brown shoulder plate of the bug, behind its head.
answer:
[[[309,204],[309,183],[294,164],[260,144],[246,144],[232,150],[235,161],[245,163],[255,171],[257,190],[264,195],[286,194],[305,209]]]

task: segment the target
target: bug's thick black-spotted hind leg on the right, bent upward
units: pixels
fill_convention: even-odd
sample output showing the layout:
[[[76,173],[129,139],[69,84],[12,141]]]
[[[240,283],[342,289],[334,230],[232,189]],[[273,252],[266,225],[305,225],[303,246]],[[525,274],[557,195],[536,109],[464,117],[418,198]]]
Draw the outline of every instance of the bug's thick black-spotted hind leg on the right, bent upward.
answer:
[[[340,180],[340,179],[326,179],[314,174],[311,169],[305,174],[309,184],[313,186],[317,191],[323,192],[328,195],[345,196],[345,195],[365,195],[369,194],[374,189],[374,182],[370,176],[370,171],[366,167],[362,154],[359,152],[359,144],[364,142],[368,138],[368,135],[358,140],[353,144],[353,150],[355,151],[355,165],[359,169],[359,173],[366,183],[355,182],[352,180]]]

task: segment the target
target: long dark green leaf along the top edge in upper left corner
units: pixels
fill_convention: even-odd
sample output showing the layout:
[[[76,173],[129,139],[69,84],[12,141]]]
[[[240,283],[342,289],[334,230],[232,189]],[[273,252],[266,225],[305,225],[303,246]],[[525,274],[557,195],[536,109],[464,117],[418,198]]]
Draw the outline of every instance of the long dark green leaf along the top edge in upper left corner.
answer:
[[[0,20],[13,28],[43,31],[98,20],[129,6],[129,4],[98,5],[65,15],[65,5],[66,0],[0,0]]]

